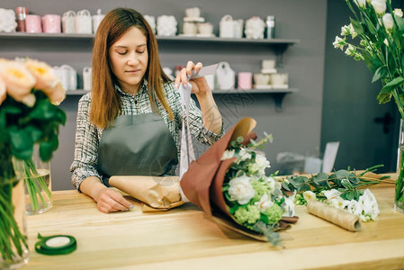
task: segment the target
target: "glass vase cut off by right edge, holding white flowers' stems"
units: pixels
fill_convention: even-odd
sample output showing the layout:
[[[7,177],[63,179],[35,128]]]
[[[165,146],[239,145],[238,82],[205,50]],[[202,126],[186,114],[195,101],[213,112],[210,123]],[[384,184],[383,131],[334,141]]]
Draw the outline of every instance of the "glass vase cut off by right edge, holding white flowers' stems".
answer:
[[[399,153],[397,157],[397,180],[394,193],[394,209],[404,213],[404,127],[400,120]]]

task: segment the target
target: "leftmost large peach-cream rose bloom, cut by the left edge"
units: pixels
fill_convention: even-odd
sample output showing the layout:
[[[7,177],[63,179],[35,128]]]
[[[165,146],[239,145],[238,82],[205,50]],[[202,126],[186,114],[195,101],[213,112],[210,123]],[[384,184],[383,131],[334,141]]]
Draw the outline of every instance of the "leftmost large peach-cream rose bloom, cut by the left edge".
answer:
[[[22,63],[15,61],[0,61],[0,76],[6,85],[7,94],[18,102],[33,106],[35,96],[31,94],[36,84],[35,77]]]

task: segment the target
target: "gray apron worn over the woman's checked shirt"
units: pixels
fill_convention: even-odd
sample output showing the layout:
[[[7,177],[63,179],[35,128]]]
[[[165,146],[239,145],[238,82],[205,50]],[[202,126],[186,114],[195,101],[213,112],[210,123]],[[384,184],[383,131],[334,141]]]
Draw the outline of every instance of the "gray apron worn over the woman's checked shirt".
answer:
[[[112,175],[175,175],[177,164],[173,136],[155,112],[120,115],[103,130],[98,171],[107,186]]]

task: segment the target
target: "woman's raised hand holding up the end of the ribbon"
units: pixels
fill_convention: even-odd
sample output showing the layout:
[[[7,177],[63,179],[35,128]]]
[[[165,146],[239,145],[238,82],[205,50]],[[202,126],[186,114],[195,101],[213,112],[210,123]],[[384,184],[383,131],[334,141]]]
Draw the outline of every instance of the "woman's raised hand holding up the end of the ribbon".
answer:
[[[196,65],[193,61],[188,61],[186,67],[184,67],[181,72],[175,77],[175,88],[178,88],[180,84],[183,84],[186,88],[188,82],[193,85],[192,93],[196,95],[208,94],[211,92],[211,87],[208,85],[205,77],[198,77],[192,80],[188,80],[192,75],[197,75],[199,70],[202,68],[202,63],[198,62]]]

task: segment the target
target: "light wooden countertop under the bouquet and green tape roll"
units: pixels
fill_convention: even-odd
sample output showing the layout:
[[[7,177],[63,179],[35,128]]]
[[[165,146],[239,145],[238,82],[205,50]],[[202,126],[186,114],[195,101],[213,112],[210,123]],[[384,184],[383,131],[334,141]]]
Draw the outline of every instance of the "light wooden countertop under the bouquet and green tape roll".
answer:
[[[300,220],[275,248],[222,231],[191,203],[166,212],[104,214],[85,194],[53,192],[54,206],[27,218],[30,261],[24,269],[398,269],[404,267],[404,214],[393,210],[392,184],[371,188],[381,213],[377,222],[350,232],[297,206]],[[37,233],[77,239],[69,255],[34,251]]]

